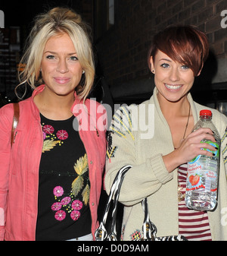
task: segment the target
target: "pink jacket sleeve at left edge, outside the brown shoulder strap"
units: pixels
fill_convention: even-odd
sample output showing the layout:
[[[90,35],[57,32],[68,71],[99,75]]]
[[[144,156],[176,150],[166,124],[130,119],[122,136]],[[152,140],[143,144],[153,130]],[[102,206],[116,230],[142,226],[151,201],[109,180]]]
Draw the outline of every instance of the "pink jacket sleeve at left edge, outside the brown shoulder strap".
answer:
[[[13,112],[11,104],[0,109],[0,241],[5,236],[8,180],[11,159],[11,127]]]

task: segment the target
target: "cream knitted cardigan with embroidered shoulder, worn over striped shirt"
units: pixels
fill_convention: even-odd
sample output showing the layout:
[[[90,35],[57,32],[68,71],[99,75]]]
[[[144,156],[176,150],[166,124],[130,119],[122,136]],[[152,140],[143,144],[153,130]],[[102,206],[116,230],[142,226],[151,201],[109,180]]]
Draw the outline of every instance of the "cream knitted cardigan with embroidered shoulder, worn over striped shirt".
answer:
[[[194,123],[199,119],[201,106],[191,98]],[[222,151],[226,151],[227,118],[215,109],[213,123],[222,137]],[[149,132],[148,132],[149,131]],[[126,173],[120,202],[125,205],[122,239],[132,240],[142,236],[144,218],[141,200],[148,197],[151,221],[157,226],[157,236],[178,235],[178,180],[177,169],[169,173],[163,163],[163,155],[174,150],[169,126],[164,119],[154,88],[150,100],[138,106],[122,106],[113,115],[108,134],[105,188],[110,191],[117,171],[126,164],[133,167]],[[226,153],[225,156],[226,157]],[[218,204],[208,212],[213,240],[227,240],[227,183],[226,163],[220,158]]]

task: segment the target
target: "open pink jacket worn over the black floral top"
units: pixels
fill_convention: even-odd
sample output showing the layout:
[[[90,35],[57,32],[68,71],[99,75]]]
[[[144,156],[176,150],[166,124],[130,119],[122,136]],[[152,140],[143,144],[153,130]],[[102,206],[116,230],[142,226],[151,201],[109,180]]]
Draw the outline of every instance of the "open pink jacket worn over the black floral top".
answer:
[[[13,106],[0,109],[0,240],[35,240],[38,212],[39,162],[42,154],[42,128],[33,96],[20,102],[20,120],[11,149]],[[76,96],[76,95],[75,95]],[[98,227],[97,210],[101,194],[106,153],[106,111],[94,100],[85,104],[76,98],[73,115],[79,122],[79,135],[86,148],[91,182],[89,206],[92,234]]]

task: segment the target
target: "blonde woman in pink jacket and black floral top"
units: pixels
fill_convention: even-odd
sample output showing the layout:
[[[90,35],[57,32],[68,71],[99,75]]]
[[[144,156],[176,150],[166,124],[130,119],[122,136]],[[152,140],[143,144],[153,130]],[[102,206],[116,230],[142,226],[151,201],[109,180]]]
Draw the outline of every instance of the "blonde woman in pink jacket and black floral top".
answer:
[[[19,103],[12,147],[12,104],[0,112],[0,240],[93,239],[106,119],[87,99],[95,75],[88,31],[67,8],[36,17],[20,74],[33,95]]]

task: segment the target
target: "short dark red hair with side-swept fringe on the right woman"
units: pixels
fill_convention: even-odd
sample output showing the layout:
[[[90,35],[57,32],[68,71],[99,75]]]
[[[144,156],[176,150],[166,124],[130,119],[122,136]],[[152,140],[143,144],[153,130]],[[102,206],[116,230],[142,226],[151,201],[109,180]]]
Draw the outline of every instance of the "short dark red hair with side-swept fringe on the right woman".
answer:
[[[209,44],[205,33],[191,26],[167,27],[154,36],[148,52],[148,66],[151,57],[155,61],[157,50],[164,52],[173,61],[182,63],[197,76],[209,55]]]

